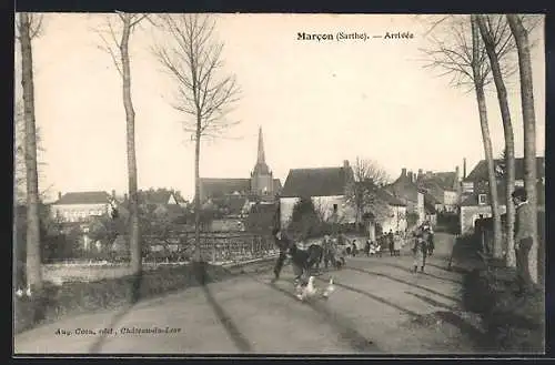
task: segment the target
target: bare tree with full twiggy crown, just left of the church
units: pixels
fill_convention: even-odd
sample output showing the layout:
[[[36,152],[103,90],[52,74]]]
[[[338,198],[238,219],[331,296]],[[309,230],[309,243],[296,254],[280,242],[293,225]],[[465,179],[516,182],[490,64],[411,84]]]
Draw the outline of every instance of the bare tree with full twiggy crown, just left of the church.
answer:
[[[200,154],[201,140],[222,136],[238,122],[226,119],[239,100],[239,87],[233,74],[222,67],[223,43],[214,39],[215,22],[210,16],[161,16],[161,29],[169,43],[160,41],[153,49],[164,71],[176,87],[172,107],[185,114],[185,132],[191,133],[194,149],[194,261],[202,262],[200,244]]]

